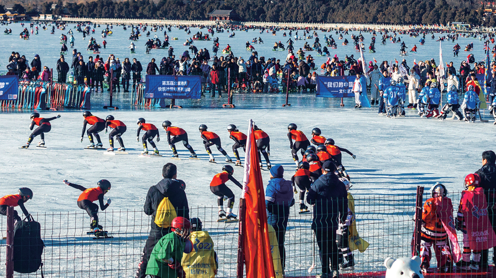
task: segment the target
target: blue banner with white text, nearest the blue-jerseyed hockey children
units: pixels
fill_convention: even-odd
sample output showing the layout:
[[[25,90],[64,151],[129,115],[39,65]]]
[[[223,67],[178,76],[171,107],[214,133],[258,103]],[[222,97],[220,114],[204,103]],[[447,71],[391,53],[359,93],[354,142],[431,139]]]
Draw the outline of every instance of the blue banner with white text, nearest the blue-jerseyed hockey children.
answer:
[[[355,97],[351,91],[355,75],[317,76],[317,97],[349,98]]]

